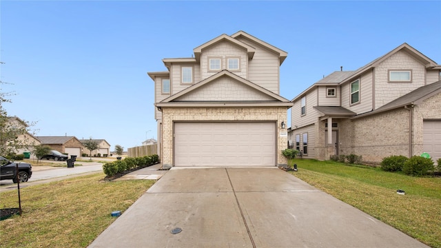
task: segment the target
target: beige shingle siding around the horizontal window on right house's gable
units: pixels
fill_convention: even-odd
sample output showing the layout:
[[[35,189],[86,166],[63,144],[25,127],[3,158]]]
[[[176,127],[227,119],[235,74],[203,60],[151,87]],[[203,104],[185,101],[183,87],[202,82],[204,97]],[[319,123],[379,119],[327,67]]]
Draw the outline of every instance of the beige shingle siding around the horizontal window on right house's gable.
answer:
[[[388,70],[411,70],[411,83],[388,83]],[[397,52],[382,61],[375,72],[375,107],[381,107],[405,94],[425,85],[426,68],[419,61],[407,54]]]

